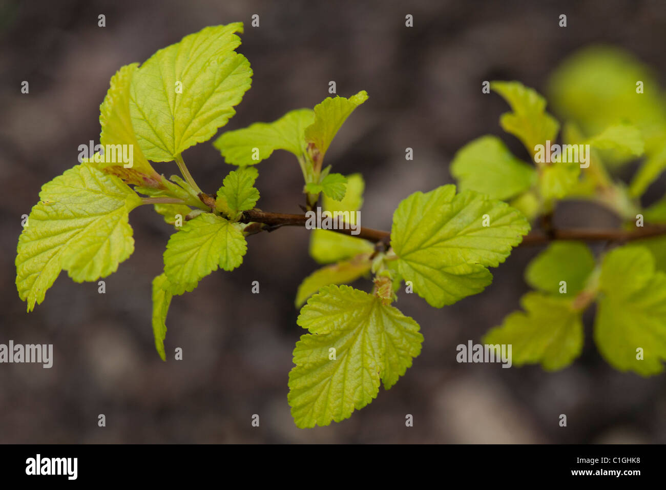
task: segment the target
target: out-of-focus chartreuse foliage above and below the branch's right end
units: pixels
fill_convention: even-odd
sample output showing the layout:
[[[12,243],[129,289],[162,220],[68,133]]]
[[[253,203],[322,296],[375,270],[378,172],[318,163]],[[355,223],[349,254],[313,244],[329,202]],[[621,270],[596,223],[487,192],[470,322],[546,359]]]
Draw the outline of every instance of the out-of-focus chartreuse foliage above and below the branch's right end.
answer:
[[[501,125],[523,143],[554,138],[545,102],[530,89],[509,95],[491,87],[513,108],[533,107],[528,117],[505,116]],[[649,69],[629,53],[611,48],[585,49],[562,63],[551,77],[549,93],[565,120],[563,143],[591,147],[587,168],[555,170],[536,165],[536,182],[525,177],[517,161],[495,137],[473,141],[456,155],[452,173],[462,187],[517,199],[533,194],[531,216],[552,212],[558,199],[585,199],[608,207],[627,230],[666,223],[666,196],[643,207],[639,197],[666,169],[666,105]],[[516,102],[521,99],[522,102]],[[539,101],[539,103],[529,101]],[[537,110],[538,109],[538,110]],[[541,111],[541,112],[539,112]],[[523,109],[523,114],[528,113]],[[523,122],[531,128],[523,127]],[[546,128],[546,130],[544,130]],[[533,136],[532,135],[536,135]],[[529,147],[527,148],[530,149]],[[613,179],[617,165],[642,157],[643,164],[627,187]],[[500,174],[501,177],[495,177]],[[492,182],[482,178],[492,175]],[[529,202],[529,201],[528,201]],[[641,239],[595,259],[587,245],[553,243],[525,271],[535,289],[522,311],[508,315],[484,341],[513,345],[515,365],[540,363],[557,370],[570,365],[583,347],[582,313],[596,303],[594,341],[606,361],[621,371],[647,376],[663,371],[666,361],[666,238]]]

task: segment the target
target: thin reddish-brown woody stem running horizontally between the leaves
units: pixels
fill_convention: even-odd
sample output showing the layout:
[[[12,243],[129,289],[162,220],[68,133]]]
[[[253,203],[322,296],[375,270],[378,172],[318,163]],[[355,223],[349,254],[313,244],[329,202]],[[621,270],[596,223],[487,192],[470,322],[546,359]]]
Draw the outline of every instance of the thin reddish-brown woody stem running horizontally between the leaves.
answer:
[[[267,225],[262,229],[273,231],[282,226],[305,226],[308,219],[305,215],[290,215],[282,213],[266,213],[258,209],[244,211],[240,220],[242,223],[263,223]],[[252,233],[258,233],[261,229],[253,229]],[[352,235],[351,229],[333,229],[338,233]],[[358,235],[354,237],[363,238],[375,243],[390,243],[390,233],[372,228],[359,227]],[[641,238],[657,237],[666,235],[666,226],[640,227],[635,231],[624,231],[621,229],[593,229],[593,228],[574,228],[574,229],[555,229],[551,228],[547,233],[543,231],[533,231],[523,237],[520,245],[543,245],[553,240],[581,240],[581,241],[615,241],[626,242]]]

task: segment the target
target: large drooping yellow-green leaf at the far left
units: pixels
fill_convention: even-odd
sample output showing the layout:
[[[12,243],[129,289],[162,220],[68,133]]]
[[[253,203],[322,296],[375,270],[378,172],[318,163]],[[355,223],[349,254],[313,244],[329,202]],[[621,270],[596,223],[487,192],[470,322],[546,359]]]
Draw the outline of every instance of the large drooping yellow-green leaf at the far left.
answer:
[[[16,285],[28,311],[61,270],[80,283],[115,272],[134,251],[129,212],[141,198],[123,181],[87,164],[43,185],[19,237]]]

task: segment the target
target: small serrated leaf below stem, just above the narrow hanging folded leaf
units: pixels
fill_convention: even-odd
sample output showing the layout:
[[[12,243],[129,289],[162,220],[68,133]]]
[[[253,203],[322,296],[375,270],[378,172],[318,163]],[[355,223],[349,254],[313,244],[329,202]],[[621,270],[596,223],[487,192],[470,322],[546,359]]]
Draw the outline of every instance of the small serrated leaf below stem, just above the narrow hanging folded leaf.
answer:
[[[243,227],[212,213],[202,213],[187,221],[166,244],[168,291],[174,295],[192,291],[218,266],[225,271],[236,269],[247,251]]]

